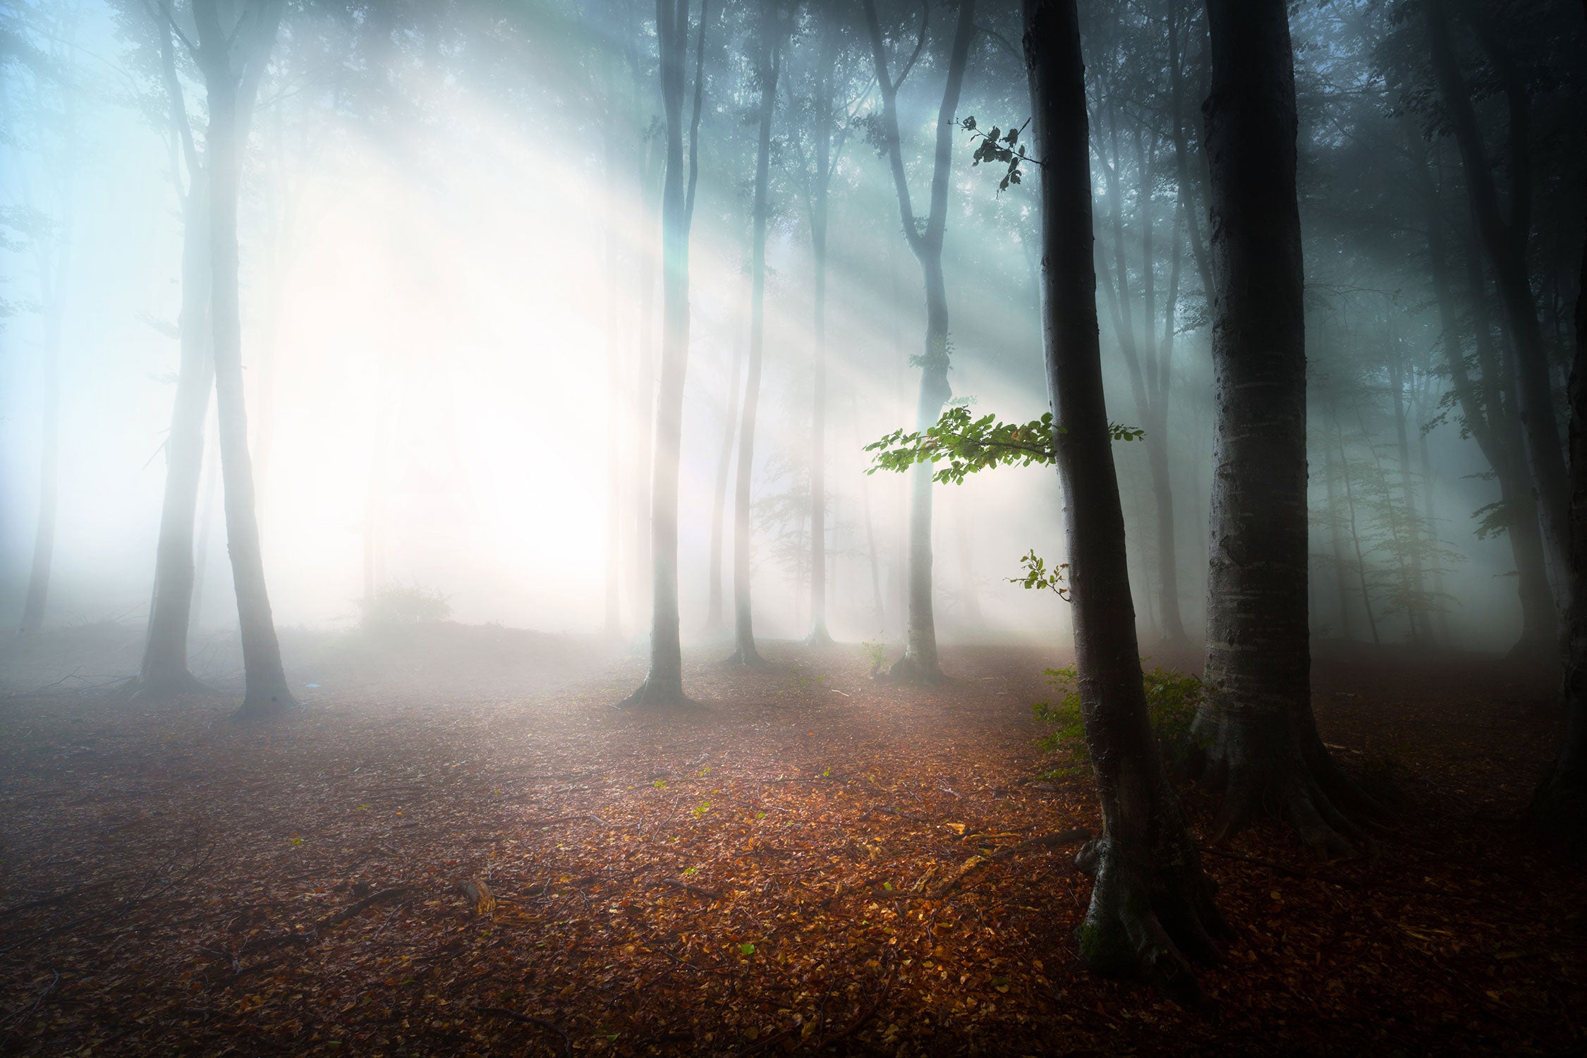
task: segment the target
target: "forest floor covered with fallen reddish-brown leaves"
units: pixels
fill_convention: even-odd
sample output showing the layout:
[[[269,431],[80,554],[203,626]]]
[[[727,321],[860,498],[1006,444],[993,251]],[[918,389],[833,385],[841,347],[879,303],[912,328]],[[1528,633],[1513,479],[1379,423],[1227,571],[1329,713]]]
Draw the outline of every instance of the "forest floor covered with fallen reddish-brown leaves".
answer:
[[[232,723],[232,698],[140,706],[13,679],[0,1050],[1411,1056],[1587,1041],[1587,877],[1516,823],[1558,733],[1549,673],[1320,654],[1324,738],[1393,780],[1398,833],[1331,863],[1276,826],[1211,850],[1238,936],[1201,972],[1208,1009],[1187,1010],[1076,963],[1090,882],[1074,844],[1035,839],[1098,814],[1089,779],[1036,779],[1030,703],[1052,650],[949,647],[955,679],[932,690],[873,682],[852,646],[768,644],[762,671],[701,654],[700,709],[628,714],[609,703],[638,657],[506,630],[443,639],[289,641],[308,687],[275,726]],[[24,673],[6,650],[0,668]],[[1214,804],[1187,804],[1205,831]]]

